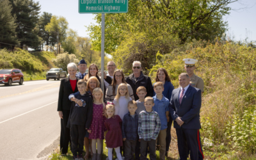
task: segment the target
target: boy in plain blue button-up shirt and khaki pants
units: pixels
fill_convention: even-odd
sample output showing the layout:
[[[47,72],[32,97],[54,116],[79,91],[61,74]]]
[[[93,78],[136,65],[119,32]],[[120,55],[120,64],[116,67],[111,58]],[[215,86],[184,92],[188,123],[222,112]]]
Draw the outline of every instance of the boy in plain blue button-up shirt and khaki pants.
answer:
[[[160,117],[161,121],[161,131],[157,137],[157,141],[159,141],[159,152],[160,159],[165,159],[165,151],[166,151],[166,129],[167,122],[169,121],[169,100],[163,96],[164,84],[161,82],[157,82],[154,84],[154,91],[156,95],[153,97],[154,106],[153,109],[156,111]]]

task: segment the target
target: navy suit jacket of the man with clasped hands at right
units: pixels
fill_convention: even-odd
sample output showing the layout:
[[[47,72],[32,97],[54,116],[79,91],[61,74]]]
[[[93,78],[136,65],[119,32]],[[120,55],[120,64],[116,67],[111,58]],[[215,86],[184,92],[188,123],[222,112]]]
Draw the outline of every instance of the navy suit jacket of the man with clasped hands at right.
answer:
[[[181,127],[184,129],[200,129],[201,90],[189,85],[181,104],[179,103],[179,94],[180,88],[173,90],[170,100],[170,113],[174,120],[173,127],[176,129]],[[181,127],[175,121],[179,116],[182,117],[180,119],[184,122]]]

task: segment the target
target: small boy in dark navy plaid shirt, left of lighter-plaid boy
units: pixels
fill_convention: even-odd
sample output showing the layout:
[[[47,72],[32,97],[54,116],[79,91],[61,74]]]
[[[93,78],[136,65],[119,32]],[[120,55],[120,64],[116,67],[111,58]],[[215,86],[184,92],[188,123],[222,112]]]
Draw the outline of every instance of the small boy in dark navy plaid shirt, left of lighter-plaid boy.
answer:
[[[122,136],[124,141],[125,160],[133,159],[136,141],[138,140],[138,114],[137,103],[134,100],[128,102],[129,113],[124,115],[122,124]]]

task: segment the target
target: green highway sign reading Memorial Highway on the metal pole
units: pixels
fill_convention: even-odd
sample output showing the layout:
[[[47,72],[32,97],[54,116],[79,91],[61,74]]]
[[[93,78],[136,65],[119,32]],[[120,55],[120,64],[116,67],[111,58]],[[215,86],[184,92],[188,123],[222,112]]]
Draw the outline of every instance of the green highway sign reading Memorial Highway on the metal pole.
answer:
[[[127,13],[128,0],[78,0],[79,13]]]

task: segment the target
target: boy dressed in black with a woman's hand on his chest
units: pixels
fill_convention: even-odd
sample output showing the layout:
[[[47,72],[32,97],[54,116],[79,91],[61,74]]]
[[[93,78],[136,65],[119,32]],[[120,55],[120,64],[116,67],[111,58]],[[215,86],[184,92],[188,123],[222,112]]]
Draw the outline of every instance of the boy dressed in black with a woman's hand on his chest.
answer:
[[[85,91],[86,81],[79,80],[77,88],[79,94],[72,98],[75,103],[72,103],[67,127],[70,128],[73,159],[82,160],[84,136],[92,122],[93,102],[92,96]]]

